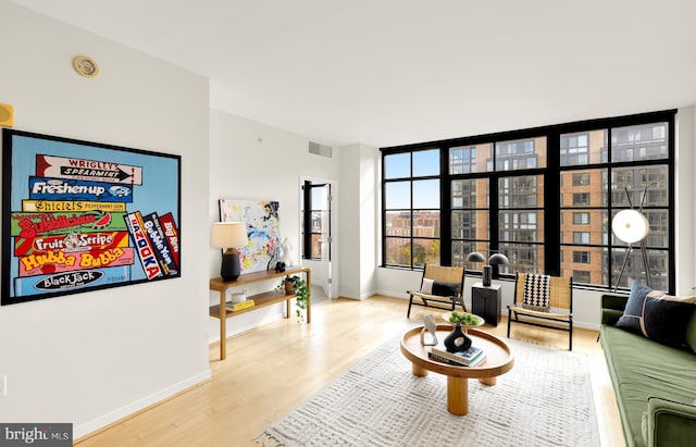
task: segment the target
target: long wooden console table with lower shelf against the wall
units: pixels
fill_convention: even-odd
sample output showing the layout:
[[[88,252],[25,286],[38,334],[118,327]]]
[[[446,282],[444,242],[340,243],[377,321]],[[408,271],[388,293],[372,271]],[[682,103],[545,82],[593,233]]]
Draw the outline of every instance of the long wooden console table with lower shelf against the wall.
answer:
[[[253,295],[247,297],[247,299],[252,299],[256,303],[254,306],[238,310],[233,312],[227,310],[225,306],[225,301],[227,299],[227,289],[233,287],[244,286],[245,284],[253,284],[260,283],[262,281],[269,281],[278,277],[293,276],[295,274],[304,274],[304,281],[307,282],[307,288],[309,289],[309,299],[307,300],[307,322],[312,322],[312,273],[309,268],[288,268],[285,272],[276,272],[275,270],[265,270],[261,272],[252,272],[246,273],[244,275],[239,275],[236,281],[224,282],[222,278],[216,277],[210,280],[209,289],[216,290],[220,293],[220,305],[210,307],[210,316],[220,319],[220,360],[224,360],[227,357],[227,319],[232,316],[237,316],[243,313],[250,312],[256,309],[265,308],[268,306],[273,306],[278,302],[285,301],[285,318],[290,316],[290,300],[295,298],[295,294],[286,295],[284,290],[277,291],[275,290],[275,286],[273,290],[264,291],[262,294]],[[276,284],[277,286],[277,284]]]

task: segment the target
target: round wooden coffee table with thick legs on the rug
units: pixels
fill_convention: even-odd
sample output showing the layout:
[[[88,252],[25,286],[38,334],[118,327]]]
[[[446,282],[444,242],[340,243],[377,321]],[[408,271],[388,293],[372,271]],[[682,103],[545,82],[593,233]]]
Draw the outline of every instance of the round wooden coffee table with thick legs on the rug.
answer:
[[[486,352],[486,360],[474,367],[457,367],[432,360],[427,357],[432,346],[421,345],[421,330],[418,326],[408,330],[401,337],[401,352],[413,364],[413,374],[419,377],[427,375],[428,371],[447,376],[447,410],[457,415],[469,412],[469,378],[478,378],[484,385],[495,385],[496,377],[512,369],[514,356],[510,348],[500,338],[486,332],[470,328],[469,337],[473,346],[482,348]],[[437,325],[437,339],[443,342],[452,326],[448,324]]]

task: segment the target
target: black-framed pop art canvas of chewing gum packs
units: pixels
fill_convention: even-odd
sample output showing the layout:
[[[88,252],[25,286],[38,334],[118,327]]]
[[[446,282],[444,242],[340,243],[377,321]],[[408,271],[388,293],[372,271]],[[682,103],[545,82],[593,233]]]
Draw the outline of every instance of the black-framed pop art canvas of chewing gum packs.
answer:
[[[181,157],[2,136],[3,306],[181,275]]]

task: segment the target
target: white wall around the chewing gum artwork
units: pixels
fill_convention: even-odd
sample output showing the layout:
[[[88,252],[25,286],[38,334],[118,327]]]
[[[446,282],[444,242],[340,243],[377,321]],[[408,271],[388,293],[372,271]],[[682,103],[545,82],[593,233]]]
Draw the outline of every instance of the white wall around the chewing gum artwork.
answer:
[[[210,376],[209,83],[7,0],[0,41],[17,131],[182,157],[181,277],[0,308],[0,421],[72,422],[77,438]]]

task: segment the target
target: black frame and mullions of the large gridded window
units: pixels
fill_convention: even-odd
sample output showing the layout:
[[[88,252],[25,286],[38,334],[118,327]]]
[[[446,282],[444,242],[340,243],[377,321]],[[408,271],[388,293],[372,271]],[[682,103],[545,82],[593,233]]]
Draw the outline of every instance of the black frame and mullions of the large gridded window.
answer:
[[[668,278],[668,293],[674,293],[675,288],[675,259],[674,259],[674,244],[675,244],[675,221],[674,221],[674,204],[675,204],[675,183],[674,183],[674,151],[675,151],[675,119],[676,119],[676,110],[663,110],[658,112],[649,112],[649,113],[641,113],[634,115],[626,116],[616,116],[616,117],[605,117],[597,120],[587,120],[580,121],[574,123],[566,123],[566,124],[557,124],[550,126],[542,126],[534,127],[529,129],[521,131],[512,131],[512,132],[504,132],[504,133],[495,133],[495,134],[486,134],[486,135],[477,135],[472,137],[462,137],[462,138],[452,138],[447,140],[439,141],[427,141],[423,144],[413,144],[413,145],[405,145],[405,146],[396,146],[396,147],[384,147],[381,148],[382,158],[384,161],[384,157],[396,153],[396,152],[411,152],[423,149],[433,149],[438,148],[440,150],[440,264],[443,265],[451,265],[452,264],[452,232],[451,232],[451,181],[456,178],[487,178],[488,179],[488,243],[489,243],[489,251],[496,251],[500,246],[499,232],[498,232],[498,220],[497,215],[501,208],[498,203],[498,182],[502,177],[509,176],[519,176],[519,175],[543,175],[545,182],[545,193],[544,193],[544,208],[546,210],[557,210],[558,212],[545,212],[544,213],[544,235],[542,237],[544,247],[544,265],[545,273],[558,275],[561,272],[561,246],[569,246],[568,244],[562,244],[560,238],[560,227],[561,227],[561,216],[560,211],[562,209],[560,203],[560,197],[558,191],[561,187],[561,173],[564,171],[577,171],[583,166],[579,165],[562,165],[560,160],[560,136],[567,134],[583,134],[592,131],[600,129],[600,128],[621,128],[627,126],[639,126],[643,124],[655,124],[655,123],[667,123],[668,124],[668,135],[667,135],[667,158],[666,159],[647,159],[647,160],[638,160],[635,158],[631,160],[619,160],[612,161],[608,156],[606,160],[601,160],[600,163],[594,163],[593,167],[630,167],[630,166],[650,166],[650,165],[667,165],[667,194],[668,194],[668,206],[663,207],[667,211],[668,215],[668,235],[667,237],[667,247],[660,247],[660,250],[667,251],[667,262],[669,269],[669,278]],[[475,147],[476,145],[489,145],[493,144],[495,147],[496,142],[505,142],[511,140],[520,140],[520,139],[533,139],[545,137],[547,141],[547,160],[546,166],[544,167],[525,167],[520,170],[507,170],[507,171],[496,171],[495,167],[493,170],[487,170],[485,172],[475,172],[475,173],[465,173],[465,174],[451,174],[449,171],[449,150],[457,147]],[[609,149],[610,150],[610,149]],[[495,164],[495,157],[492,157],[492,163]],[[384,165],[384,163],[383,163]],[[382,193],[384,198],[384,171],[382,176]],[[554,193],[556,191],[556,193]],[[610,190],[611,191],[611,190]],[[611,196],[609,194],[608,196]],[[609,199],[608,203],[602,203],[600,207],[602,210],[607,210],[609,215],[612,215],[612,212],[617,212],[625,207],[613,207],[611,203],[611,199]],[[636,207],[637,208],[637,207]],[[579,210],[580,211],[580,210]],[[496,216],[495,219],[493,216]],[[385,209],[384,209],[384,200],[382,202],[382,263],[383,268],[393,268],[395,265],[389,265],[385,262],[385,237],[384,237],[384,220],[385,218]],[[625,245],[619,245],[613,241],[613,237],[611,236],[611,232],[609,231],[609,240],[604,245],[604,247],[608,247],[608,251],[612,252],[613,248],[624,248]],[[573,246],[573,244],[570,244]],[[583,247],[583,246],[579,246]],[[574,248],[574,247],[573,247]],[[609,257],[613,258],[613,257]],[[608,259],[607,269],[609,272],[612,272],[612,266],[616,264],[617,260]],[[403,265],[398,265],[395,268],[403,268]],[[407,266],[408,268],[408,266]],[[421,270],[420,266],[410,266],[411,270]],[[494,269],[495,270],[495,269]],[[512,278],[513,276],[510,272],[504,274],[496,274],[498,272],[494,272],[494,277],[499,278]],[[611,284],[614,278],[611,274],[608,275],[608,284],[588,284],[585,285],[591,288],[600,288],[600,289],[612,289],[613,284]],[[577,286],[577,285],[576,285]]]

